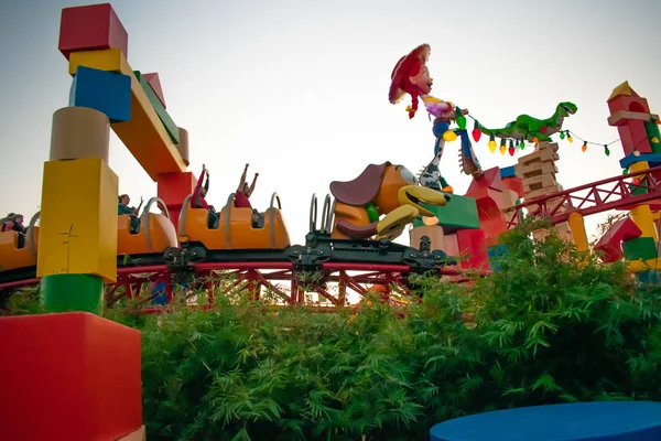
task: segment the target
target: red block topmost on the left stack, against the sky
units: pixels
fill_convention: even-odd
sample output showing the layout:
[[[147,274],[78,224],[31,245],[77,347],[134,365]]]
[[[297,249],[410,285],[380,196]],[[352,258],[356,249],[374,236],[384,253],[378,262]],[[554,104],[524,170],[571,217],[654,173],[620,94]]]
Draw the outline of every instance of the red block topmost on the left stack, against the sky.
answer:
[[[59,20],[59,52],[120,49],[129,57],[129,34],[110,3],[64,8]]]

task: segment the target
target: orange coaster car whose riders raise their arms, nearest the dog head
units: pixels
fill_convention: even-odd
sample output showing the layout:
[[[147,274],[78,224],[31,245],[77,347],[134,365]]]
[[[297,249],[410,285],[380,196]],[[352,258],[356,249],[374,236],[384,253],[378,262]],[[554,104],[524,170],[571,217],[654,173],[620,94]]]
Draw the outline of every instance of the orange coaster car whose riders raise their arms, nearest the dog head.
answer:
[[[206,249],[284,249],[291,245],[277,193],[271,196],[271,204],[264,213],[237,208],[234,193],[230,194],[219,213],[217,225],[212,228],[208,225],[209,212],[193,208],[191,196],[184,200],[180,217],[182,244],[199,243]]]

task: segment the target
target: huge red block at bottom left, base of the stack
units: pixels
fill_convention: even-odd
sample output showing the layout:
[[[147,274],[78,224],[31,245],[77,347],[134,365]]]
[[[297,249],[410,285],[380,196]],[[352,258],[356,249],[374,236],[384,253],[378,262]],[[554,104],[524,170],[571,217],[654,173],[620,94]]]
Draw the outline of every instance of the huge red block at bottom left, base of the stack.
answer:
[[[107,441],[142,426],[140,332],[73,312],[0,319],[0,440]]]

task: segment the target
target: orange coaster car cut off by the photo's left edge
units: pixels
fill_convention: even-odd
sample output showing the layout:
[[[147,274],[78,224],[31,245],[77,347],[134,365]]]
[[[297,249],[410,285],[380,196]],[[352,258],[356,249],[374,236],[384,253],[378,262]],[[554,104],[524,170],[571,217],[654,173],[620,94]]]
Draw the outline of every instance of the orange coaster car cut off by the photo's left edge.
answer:
[[[30,225],[23,239],[19,238],[20,233],[0,232],[0,271],[11,271],[12,269],[28,268],[36,266],[36,251],[39,248],[39,226],[34,224],[39,219],[39,213],[32,216]],[[24,241],[19,247],[19,241]]]

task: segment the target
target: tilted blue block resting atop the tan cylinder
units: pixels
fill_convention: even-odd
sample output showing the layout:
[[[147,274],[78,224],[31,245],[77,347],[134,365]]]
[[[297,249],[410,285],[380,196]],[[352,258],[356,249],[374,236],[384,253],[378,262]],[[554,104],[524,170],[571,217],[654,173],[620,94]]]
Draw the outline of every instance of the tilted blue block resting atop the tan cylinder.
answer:
[[[78,66],[69,93],[69,106],[104,112],[110,122],[131,119],[131,77]]]

